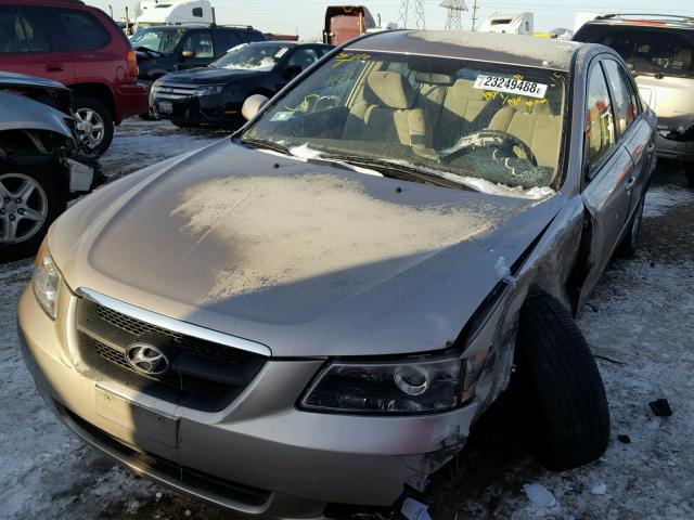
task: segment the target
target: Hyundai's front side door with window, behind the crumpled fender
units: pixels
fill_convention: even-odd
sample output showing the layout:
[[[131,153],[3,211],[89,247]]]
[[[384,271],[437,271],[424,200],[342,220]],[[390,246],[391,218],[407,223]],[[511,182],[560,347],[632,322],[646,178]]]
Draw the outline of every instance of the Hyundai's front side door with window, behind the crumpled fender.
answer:
[[[619,139],[615,106],[603,64],[588,74],[584,110],[583,204],[590,213],[590,251],[579,308],[609,262],[631,206],[634,165]]]

